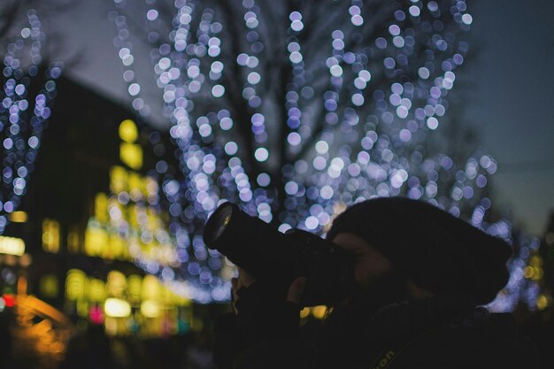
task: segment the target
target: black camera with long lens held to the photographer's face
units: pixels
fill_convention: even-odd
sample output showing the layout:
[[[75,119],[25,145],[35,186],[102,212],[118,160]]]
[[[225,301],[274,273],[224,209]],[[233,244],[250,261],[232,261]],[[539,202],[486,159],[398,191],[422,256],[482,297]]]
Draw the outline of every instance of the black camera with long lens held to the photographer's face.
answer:
[[[302,306],[338,304],[353,284],[353,260],[335,243],[300,229],[283,234],[236,204],[212,213],[204,243],[282,296],[297,277],[306,277]]]

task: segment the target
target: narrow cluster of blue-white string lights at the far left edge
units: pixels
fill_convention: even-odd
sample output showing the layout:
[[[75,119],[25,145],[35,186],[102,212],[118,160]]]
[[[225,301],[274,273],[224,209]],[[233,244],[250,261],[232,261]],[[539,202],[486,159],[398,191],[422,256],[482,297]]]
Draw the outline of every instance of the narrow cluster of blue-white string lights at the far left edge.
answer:
[[[56,80],[62,65],[50,63],[43,85],[36,92],[32,83],[42,78],[42,45],[46,35],[35,10],[27,12],[28,26],[19,38],[8,44],[4,55],[4,86],[0,91],[0,140],[2,141],[2,192],[0,194],[0,234],[9,215],[19,208],[27,191],[27,181],[35,168],[42,130],[50,118],[57,95]],[[35,96],[33,94],[36,94]]]

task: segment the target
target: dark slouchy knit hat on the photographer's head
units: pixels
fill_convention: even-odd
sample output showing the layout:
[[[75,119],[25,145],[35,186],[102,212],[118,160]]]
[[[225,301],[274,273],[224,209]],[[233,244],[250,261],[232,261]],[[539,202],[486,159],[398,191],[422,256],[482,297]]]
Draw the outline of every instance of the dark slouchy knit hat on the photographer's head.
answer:
[[[340,233],[358,235],[434,293],[463,293],[487,304],[508,282],[506,242],[422,201],[383,197],[355,204],[335,219],[327,239]]]

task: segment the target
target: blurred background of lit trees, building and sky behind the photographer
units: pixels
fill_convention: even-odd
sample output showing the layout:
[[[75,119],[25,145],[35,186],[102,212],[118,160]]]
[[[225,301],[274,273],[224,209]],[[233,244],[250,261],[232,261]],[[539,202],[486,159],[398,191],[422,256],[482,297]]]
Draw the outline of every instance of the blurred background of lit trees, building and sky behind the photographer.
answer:
[[[1,366],[211,368],[218,204],[325,235],[374,196],[510,242],[489,309],[554,362],[554,4],[274,3],[0,4]]]

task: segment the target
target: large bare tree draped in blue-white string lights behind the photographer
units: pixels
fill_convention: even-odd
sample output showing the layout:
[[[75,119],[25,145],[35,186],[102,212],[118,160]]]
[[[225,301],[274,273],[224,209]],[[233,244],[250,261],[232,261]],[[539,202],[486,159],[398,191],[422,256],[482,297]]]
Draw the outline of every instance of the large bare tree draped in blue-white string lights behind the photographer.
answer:
[[[494,226],[496,162],[443,119],[468,50],[465,1],[114,2],[114,44],[143,117],[152,109],[134,41],[150,46],[180,161],[157,175],[181,278],[195,291],[228,284],[201,239],[224,199],[280,230],[324,233],[338,211],[373,196],[418,198]],[[489,230],[509,237],[504,228]]]

